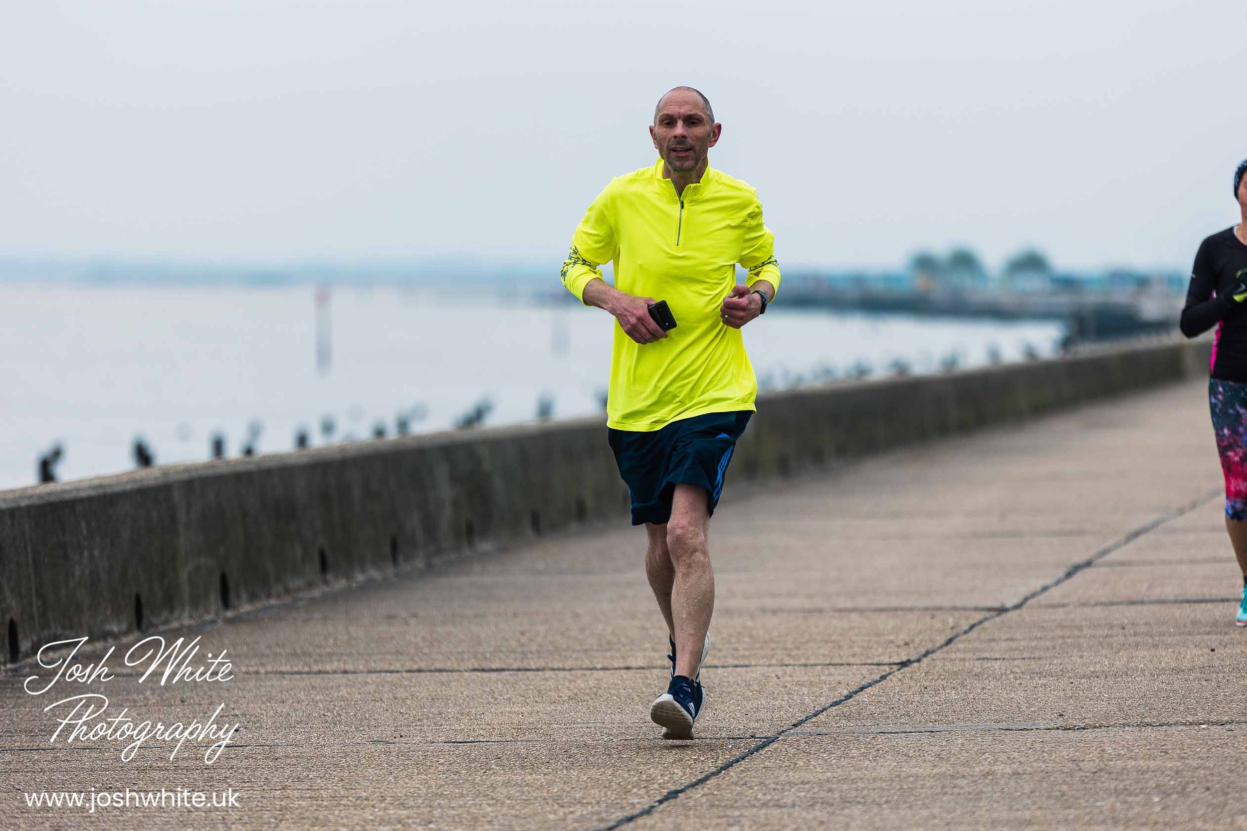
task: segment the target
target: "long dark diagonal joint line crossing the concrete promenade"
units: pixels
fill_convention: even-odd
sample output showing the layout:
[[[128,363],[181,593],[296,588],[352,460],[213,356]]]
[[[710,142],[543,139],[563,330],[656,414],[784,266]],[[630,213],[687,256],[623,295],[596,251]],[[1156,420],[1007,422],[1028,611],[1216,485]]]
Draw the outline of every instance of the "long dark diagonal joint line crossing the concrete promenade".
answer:
[[[807,724],[807,723],[817,719],[818,716],[823,715],[828,710],[832,710],[832,709],[834,709],[834,708],[837,708],[837,706],[839,706],[839,705],[842,705],[842,704],[844,704],[847,701],[853,700],[854,698],[857,698],[862,693],[867,691],[868,689],[870,689],[873,686],[878,686],[879,684],[884,683],[885,680],[888,680],[889,678],[892,678],[897,673],[902,673],[902,672],[909,669],[910,667],[915,667],[915,665],[920,664],[922,662],[927,660],[928,658],[930,658],[932,655],[934,655],[934,654],[936,654],[939,652],[943,652],[944,649],[948,649],[954,643],[956,643],[958,640],[960,640],[961,638],[964,638],[965,635],[970,634],[971,632],[974,632],[979,627],[981,627],[981,625],[984,625],[986,623],[990,623],[990,622],[995,620],[996,618],[1001,618],[1001,617],[1004,617],[1006,614],[1011,614],[1013,612],[1016,612],[1018,609],[1023,608],[1024,605],[1026,605],[1028,603],[1030,603],[1035,598],[1042,597],[1044,594],[1047,594],[1049,592],[1051,592],[1057,586],[1061,586],[1062,583],[1072,579],[1075,576],[1077,576],[1079,573],[1086,571],[1087,568],[1090,568],[1091,566],[1094,566],[1099,561],[1104,559],[1109,554],[1114,553],[1115,551],[1120,551],[1121,548],[1125,548],[1126,546],[1129,546],[1130,543],[1132,543],[1135,539],[1139,539],[1143,534],[1155,531],[1156,528],[1161,527],[1162,525],[1165,525],[1167,522],[1172,522],[1173,520],[1177,520],[1180,517],[1186,516],[1191,511],[1195,511],[1200,506],[1207,503],[1210,500],[1213,500],[1213,498],[1221,496],[1221,493],[1222,493],[1221,488],[1217,488],[1217,490],[1211,491],[1211,492],[1208,492],[1208,493],[1206,493],[1206,495],[1203,495],[1203,496],[1201,496],[1201,497],[1198,497],[1196,500],[1192,500],[1191,502],[1187,502],[1186,505],[1183,505],[1180,508],[1176,508],[1173,511],[1167,511],[1167,512],[1165,512],[1165,513],[1155,517],[1153,520],[1151,520],[1148,522],[1145,522],[1143,525],[1139,526],[1137,528],[1132,528],[1131,531],[1127,531],[1119,539],[1116,539],[1116,541],[1109,543],[1107,546],[1105,546],[1104,548],[1096,551],[1094,554],[1091,554],[1086,559],[1082,559],[1082,561],[1079,561],[1079,562],[1074,563],[1067,569],[1065,569],[1064,574],[1061,574],[1056,579],[1052,579],[1052,581],[1049,581],[1047,583],[1044,583],[1042,586],[1040,586],[1039,588],[1034,589],[1029,594],[1024,596],[1021,599],[1016,601],[1015,603],[1011,603],[1009,605],[1001,607],[1000,609],[996,609],[996,610],[994,610],[994,612],[991,612],[989,614],[983,615],[978,620],[975,620],[975,622],[970,623],[969,625],[966,625],[960,632],[956,632],[953,635],[950,635],[943,643],[939,643],[939,644],[936,644],[934,647],[930,647],[929,649],[924,649],[923,652],[918,653],[913,658],[907,658],[905,660],[902,660],[899,664],[897,664],[894,668],[889,669],[888,672],[877,675],[875,678],[865,681],[864,684],[853,688],[852,690],[849,690],[844,695],[839,696],[838,699],[834,699],[833,701],[829,701],[828,704],[824,704],[823,706],[818,708],[813,713],[809,713],[808,715],[802,716],[801,719],[798,719],[798,720],[793,721],[792,724],[789,724],[787,728],[784,728],[784,729],[779,730],[778,733],[776,733],[773,736],[768,736],[763,741],[759,741],[758,744],[753,745],[752,748],[749,748],[748,750],[746,750],[741,755],[738,755],[738,756],[736,756],[733,759],[727,760],[726,762],[723,762],[718,767],[715,767],[713,770],[711,770],[707,774],[705,774],[705,775],[695,779],[691,782],[681,785],[680,787],[673,787],[672,790],[667,791],[666,794],[663,794],[658,799],[656,799],[652,802],[650,802],[648,805],[646,805],[640,811],[633,811],[632,814],[622,816],[622,817],[615,820],[614,822],[611,822],[610,825],[602,826],[600,829],[600,831],[614,831],[615,829],[620,829],[620,827],[622,827],[625,825],[628,825],[630,822],[633,822],[635,820],[640,820],[643,816],[648,816],[650,814],[653,814],[656,810],[658,810],[660,807],[662,807],[667,802],[672,802],[672,801],[680,799],[681,796],[683,796],[688,791],[695,790],[697,787],[701,787],[702,785],[705,785],[710,780],[715,779],[716,776],[720,776],[721,774],[726,774],[728,770],[736,767],[737,765],[739,765],[741,762],[746,761],[747,759],[758,755],[759,753],[762,753],[763,750],[766,750],[767,748],[769,748],[774,743],[779,741],[779,739],[783,739],[787,734],[789,734],[793,730],[797,730],[798,728],[801,728],[803,724]]]

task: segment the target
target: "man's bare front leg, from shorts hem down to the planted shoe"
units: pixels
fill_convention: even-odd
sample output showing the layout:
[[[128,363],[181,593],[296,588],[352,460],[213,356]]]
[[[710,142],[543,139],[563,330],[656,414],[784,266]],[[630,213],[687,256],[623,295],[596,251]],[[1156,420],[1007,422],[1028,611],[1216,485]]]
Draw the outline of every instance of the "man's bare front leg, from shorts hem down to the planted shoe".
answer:
[[[715,613],[715,572],[710,564],[708,531],[706,488],[677,485],[667,522],[667,552],[675,579],[666,614],[670,615],[667,624],[672,627],[676,640],[676,675],[685,678],[697,678],[702,644]],[[658,605],[662,605],[661,599]]]

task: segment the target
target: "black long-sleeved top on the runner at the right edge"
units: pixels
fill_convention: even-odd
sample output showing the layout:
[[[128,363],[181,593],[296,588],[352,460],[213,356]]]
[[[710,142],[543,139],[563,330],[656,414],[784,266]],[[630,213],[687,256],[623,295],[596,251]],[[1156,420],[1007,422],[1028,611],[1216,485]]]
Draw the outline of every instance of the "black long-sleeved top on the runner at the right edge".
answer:
[[[1230,287],[1247,273],[1247,245],[1235,229],[1220,230],[1202,243],[1195,255],[1186,306],[1178,324],[1182,334],[1195,338],[1217,326],[1212,346],[1212,378],[1247,382],[1247,314],[1230,299]]]

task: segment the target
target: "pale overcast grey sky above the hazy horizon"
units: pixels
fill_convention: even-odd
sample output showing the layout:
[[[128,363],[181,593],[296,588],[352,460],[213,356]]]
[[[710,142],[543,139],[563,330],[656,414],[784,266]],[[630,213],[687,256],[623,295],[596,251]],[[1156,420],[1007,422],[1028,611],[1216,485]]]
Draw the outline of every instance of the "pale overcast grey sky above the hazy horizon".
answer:
[[[688,83],[781,263],[1185,269],[1245,59],[1242,0],[10,0],[0,257],[557,267]]]

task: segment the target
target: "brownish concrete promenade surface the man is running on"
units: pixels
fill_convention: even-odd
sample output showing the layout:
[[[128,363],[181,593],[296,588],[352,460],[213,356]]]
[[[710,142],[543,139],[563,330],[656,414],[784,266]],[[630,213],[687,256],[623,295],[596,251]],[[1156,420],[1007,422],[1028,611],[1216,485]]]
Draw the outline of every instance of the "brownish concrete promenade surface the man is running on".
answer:
[[[1247,827],[1205,389],[748,492],[729,475],[696,741],[647,719],[666,634],[643,534],[602,527],[186,630],[228,650],[227,683],[140,685],[118,654],[113,680],[57,686],[165,721],[223,701],[242,729],[211,766],[191,743],[50,744],[52,693],[9,668],[0,829]],[[242,795],[24,797],[92,787]]]

